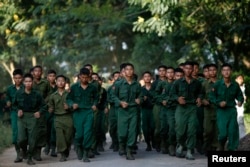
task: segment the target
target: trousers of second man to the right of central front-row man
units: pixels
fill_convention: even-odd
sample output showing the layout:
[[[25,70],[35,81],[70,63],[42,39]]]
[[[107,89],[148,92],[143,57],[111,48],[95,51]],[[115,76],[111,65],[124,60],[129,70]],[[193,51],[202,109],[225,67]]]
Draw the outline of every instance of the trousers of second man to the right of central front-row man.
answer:
[[[153,116],[154,116],[154,123],[155,123],[155,129],[154,129],[154,141],[155,141],[155,147],[160,148],[161,145],[161,137],[160,137],[160,110],[161,105],[155,104],[153,107]]]

